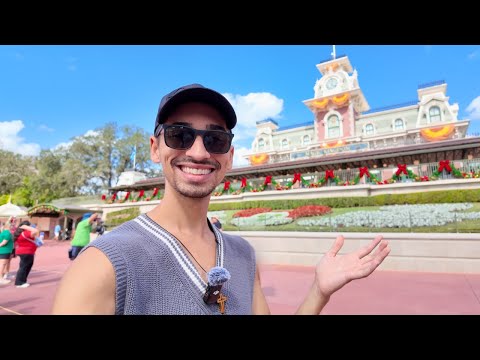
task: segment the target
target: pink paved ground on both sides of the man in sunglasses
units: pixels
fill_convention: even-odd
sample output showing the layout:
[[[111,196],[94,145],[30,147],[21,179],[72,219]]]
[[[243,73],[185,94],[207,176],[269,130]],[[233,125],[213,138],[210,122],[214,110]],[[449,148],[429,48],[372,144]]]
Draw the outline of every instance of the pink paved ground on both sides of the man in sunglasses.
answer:
[[[69,242],[46,241],[37,250],[31,286],[0,286],[0,315],[49,314],[56,287],[70,266]],[[18,268],[19,258],[12,262]],[[313,281],[306,266],[263,265],[262,287],[272,314],[293,314]],[[480,274],[377,270],[332,296],[322,314],[480,314]]]

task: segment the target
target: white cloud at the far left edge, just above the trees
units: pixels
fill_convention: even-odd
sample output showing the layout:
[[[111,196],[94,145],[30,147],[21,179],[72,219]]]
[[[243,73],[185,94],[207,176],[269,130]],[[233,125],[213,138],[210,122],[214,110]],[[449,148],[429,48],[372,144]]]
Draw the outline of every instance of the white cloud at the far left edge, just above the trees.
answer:
[[[25,127],[22,120],[0,121],[0,148],[27,156],[36,156],[40,153],[40,145],[26,143],[18,133]]]

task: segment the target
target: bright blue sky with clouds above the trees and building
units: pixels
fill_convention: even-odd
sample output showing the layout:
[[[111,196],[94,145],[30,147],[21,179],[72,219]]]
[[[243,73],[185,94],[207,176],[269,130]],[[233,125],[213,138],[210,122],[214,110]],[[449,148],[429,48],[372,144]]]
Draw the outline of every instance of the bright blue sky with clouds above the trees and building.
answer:
[[[161,97],[198,82],[225,94],[239,118],[236,158],[255,122],[313,121],[302,103],[331,45],[0,46],[0,148],[26,155],[68,143],[107,122],[153,131]],[[479,45],[336,45],[358,71],[372,109],[417,99],[417,86],[447,82],[469,133],[480,133]]]

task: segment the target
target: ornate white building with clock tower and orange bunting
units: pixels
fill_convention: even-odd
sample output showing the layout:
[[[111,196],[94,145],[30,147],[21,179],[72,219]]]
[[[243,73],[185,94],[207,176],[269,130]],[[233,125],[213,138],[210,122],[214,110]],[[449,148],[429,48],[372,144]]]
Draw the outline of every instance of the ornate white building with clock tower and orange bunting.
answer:
[[[329,154],[394,148],[463,138],[469,121],[458,119],[445,81],[419,85],[418,100],[370,110],[347,56],[317,65],[322,77],[313,98],[303,103],[313,121],[279,127],[273,119],[257,122],[251,165],[294,161]]]

